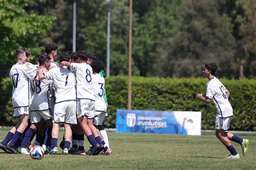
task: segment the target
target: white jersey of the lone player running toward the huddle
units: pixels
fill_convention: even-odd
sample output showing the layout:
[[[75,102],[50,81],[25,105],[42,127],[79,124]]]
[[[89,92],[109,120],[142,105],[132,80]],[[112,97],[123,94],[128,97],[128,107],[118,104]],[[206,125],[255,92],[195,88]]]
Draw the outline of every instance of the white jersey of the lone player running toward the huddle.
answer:
[[[217,117],[233,116],[233,108],[226,96],[226,87],[217,79],[213,77],[206,84],[206,97],[213,100],[217,108]]]

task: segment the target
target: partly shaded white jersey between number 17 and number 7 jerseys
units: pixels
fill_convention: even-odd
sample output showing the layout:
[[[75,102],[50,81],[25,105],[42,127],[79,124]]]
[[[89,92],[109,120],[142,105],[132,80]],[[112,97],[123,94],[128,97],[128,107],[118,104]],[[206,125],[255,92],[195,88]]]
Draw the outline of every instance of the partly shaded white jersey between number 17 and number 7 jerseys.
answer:
[[[45,72],[46,69],[45,69]],[[48,110],[49,109],[49,98],[48,91],[49,85],[52,83],[50,80],[39,80],[38,82],[33,81],[34,96],[30,105],[31,111]]]

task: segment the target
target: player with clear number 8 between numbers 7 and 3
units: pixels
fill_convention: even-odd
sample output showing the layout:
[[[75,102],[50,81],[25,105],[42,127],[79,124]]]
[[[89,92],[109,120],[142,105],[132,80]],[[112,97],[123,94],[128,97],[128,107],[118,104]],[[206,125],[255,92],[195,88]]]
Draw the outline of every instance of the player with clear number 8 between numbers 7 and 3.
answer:
[[[92,68],[87,65],[88,54],[85,51],[77,53],[78,63],[60,62],[60,66],[68,66],[76,73],[77,81],[77,119],[80,128],[86,134],[89,143],[92,145],[92,155],[99,154],[103,150],[100,147],[102,140],[98,130],[93,126],[95,116],[95,97],[92,90]]]

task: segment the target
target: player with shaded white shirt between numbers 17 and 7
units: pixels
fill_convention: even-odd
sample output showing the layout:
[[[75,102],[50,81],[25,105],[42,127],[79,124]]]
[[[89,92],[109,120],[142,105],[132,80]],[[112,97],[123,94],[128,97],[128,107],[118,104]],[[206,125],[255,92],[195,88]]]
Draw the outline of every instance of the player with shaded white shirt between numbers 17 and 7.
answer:
[[[38,61],[39,61],[39,69],[42,69],[43,72],[47,72],[50,68],[51,61],[50,57],[46,53],[39,53],[38,54]],[[37,77],[38,78],[38,77]],[[45,135],[45,145],[44,150],[46,151],[46,143],[50,145],[51,140],[51,130],[52,130],[52,116],[50,115],[49,111],[49,100],[48,100],[48,90],[49,85],[52,81],[49,80],[36,80],[33,81],[33,89],[35,90],[35,95],[33,96],[32,103],[30,105],[31,110],[31,125],[26,131],[24,139],[21,143],[21,153],[22,154],[29,154],[26,150],[26,145],[28,145],[31,138],[35,135],[36,131],[38,130],[39,122],[43,118],[46,121],[48,127],[46,128],[46,135]]]

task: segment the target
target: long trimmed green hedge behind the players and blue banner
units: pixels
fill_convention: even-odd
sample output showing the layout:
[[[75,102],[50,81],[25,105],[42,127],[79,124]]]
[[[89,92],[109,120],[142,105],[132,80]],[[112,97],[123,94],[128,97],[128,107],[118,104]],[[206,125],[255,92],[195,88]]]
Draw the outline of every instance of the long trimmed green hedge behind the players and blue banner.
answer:
[[[113,76],[106,80],[106,94],[109,102],[108,114],[104,123],[114,128],[116,110],[127,109],[127,76]],[[171,79],[157,77],[132,77],[132,109],[201,111],[202,129],[214,129],[215,105],[196,100],[197,93],[205,96],[207,79]],[[256,80],[220,79],[230,91],[230,102],[234,110],[232,130],[255,131]],[[0,125],[13,125],[11,88],[7,77],[0,82]]]

